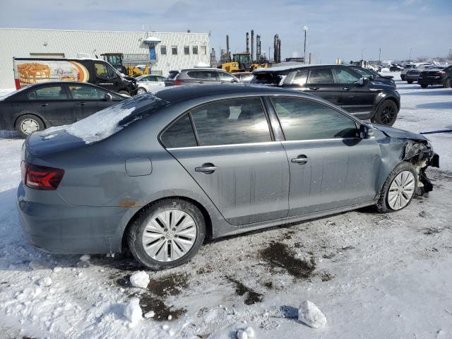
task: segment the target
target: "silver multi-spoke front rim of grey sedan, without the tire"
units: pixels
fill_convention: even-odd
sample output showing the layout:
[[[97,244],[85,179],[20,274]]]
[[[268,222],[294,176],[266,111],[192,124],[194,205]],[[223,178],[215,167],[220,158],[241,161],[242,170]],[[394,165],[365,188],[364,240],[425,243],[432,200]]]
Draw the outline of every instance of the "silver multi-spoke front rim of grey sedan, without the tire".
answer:
[[[408,205],[415,193],[415,176],[403,171],[393,179],[388,191],[388,205],[392,210],[400,210]]]

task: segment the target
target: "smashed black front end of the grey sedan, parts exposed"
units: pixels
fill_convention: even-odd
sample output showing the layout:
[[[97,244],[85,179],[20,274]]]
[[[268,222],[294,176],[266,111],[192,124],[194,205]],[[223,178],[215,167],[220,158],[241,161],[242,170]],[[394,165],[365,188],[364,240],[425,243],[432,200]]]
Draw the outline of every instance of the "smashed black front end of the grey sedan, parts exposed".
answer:
[[[439,167],[439,155],[434,153],[432,145],[425,140],[408,140],[405,143],[403,160],[411,162],[417,171],[416,194],[422,196],[424,193],[433,190],[425,169],[427,167]]]

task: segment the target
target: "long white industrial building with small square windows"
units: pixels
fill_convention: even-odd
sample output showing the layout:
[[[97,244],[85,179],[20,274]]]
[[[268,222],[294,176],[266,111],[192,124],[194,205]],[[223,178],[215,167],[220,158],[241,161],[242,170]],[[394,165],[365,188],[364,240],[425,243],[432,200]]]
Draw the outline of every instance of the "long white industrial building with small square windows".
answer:
[[[147,37],[161,40],[155,47],[153,73],[210,64],[208,33],[113,32],[99,30],[41,30],[0,28],[0,88],[14,88],[13,57],[76,58],[121,52],[148,54]]]

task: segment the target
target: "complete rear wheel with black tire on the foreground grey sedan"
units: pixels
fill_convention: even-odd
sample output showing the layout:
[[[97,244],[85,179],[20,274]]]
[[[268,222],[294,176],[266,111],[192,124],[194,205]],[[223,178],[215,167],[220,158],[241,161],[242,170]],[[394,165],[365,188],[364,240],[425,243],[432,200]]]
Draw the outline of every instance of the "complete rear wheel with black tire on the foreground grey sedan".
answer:
[[[168,219],[173,223],[182,220],[179,227],[185,228],[177,230],[178,226],[173,224],[169,229],[171,222],[167,223]],[[194,225],[187,227],[190,224]],[[143,238],[145,229],[148,237]],[[206,222],[201,210],[193,203],[181,198],[165,198],[141,211],[127,230],[126,237],[129,249],[139,263],[150,270],[163,270],[180,266],[196,254],[206,237]],[[148,251],[143,239],[149,241]]]

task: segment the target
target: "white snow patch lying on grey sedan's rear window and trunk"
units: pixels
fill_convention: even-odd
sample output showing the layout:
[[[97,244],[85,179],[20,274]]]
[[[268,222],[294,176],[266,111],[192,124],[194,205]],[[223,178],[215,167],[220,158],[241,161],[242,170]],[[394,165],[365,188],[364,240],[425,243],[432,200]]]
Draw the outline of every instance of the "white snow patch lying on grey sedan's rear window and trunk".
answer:
[[[66,131],[66,133],[81,138],[85,143],[94,143],[120,131],[123,126],[119,126],[119,121],[128,117],[134,110],[135,107],[123,109],[119,105],[110,106],[71,125],[45,129],[41,136],[45,139],[55,131]]]

